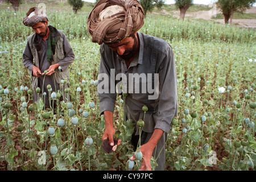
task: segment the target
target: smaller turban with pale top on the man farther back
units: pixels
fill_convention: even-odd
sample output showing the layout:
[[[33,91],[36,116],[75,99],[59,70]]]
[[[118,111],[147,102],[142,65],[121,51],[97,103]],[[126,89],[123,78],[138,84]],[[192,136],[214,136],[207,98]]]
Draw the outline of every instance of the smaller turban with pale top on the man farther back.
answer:
[[[31,7],[31,9],[27,12],[26,17],[23,18],[23,24],[28,27],[32,27],[35,24],[43,21],[48,21],[48,17],[42,9],[37,7]]]

